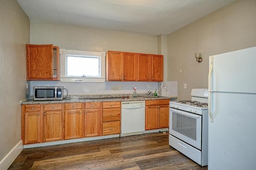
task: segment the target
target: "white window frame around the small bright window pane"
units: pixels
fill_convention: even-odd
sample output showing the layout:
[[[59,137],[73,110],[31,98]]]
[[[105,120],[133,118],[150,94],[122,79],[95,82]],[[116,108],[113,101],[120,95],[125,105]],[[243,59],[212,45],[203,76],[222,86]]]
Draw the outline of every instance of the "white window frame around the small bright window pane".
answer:
[[[67,55],[100,57],[100,77],[66,76]],[[105,82],[106,80],[106,53],[94,51],[76,51],[60,49],[60,81],[61,82]]]

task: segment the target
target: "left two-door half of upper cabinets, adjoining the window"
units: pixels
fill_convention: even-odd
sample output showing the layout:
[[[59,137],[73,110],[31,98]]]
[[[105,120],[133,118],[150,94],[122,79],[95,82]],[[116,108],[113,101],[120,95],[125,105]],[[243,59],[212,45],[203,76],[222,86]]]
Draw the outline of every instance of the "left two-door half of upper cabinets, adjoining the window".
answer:
[[[108,51],[106,53],[107,81],[136,81],[136,53]]]

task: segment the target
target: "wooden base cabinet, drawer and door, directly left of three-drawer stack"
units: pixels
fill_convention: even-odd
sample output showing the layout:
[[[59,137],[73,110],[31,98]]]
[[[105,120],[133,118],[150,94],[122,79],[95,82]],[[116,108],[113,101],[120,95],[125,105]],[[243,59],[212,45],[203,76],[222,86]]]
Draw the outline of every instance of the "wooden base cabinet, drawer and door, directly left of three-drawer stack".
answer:
[[[102,114],[100,102],[84,103],[84,137],[102,134]]]

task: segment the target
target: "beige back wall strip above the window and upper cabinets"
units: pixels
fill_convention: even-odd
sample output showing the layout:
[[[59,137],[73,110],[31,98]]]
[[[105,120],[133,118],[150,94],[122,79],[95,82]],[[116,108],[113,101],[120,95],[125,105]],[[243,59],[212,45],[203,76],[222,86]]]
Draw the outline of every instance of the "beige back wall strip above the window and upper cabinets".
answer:
[[[31,21],[31,43],[82,51],[158,53],[156,36],[38,21]]]

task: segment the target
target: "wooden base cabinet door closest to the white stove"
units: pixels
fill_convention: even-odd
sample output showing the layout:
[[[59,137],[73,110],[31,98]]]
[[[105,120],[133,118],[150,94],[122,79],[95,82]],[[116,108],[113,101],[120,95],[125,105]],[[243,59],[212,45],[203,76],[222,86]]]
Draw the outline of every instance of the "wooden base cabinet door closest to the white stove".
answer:
[[[159,128],[169,127],[169,105],[159,106]]]

